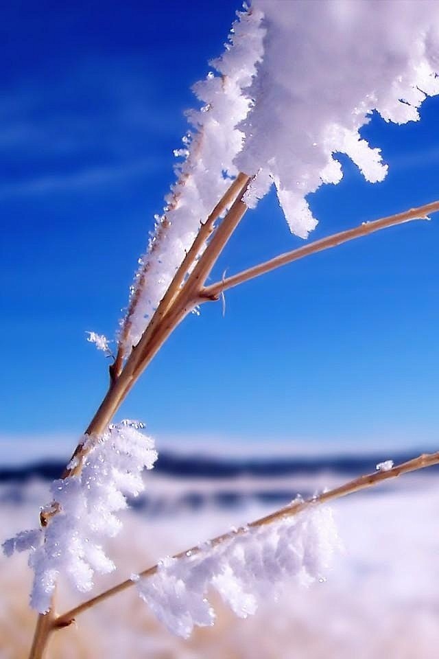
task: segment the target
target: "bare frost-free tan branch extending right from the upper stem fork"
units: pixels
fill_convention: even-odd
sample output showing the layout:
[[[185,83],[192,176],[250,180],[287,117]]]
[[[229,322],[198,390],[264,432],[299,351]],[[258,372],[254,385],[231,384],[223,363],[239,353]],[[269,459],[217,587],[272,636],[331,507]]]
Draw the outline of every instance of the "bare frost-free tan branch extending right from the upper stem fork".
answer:
[[[438,210],[439,201],[434,201],[430,204],[404,211],[403,213],[397,213],[396,215],[387,218],[381,218],[381,220],[364,222],[354,229],[334,233],[327,238],[316,240],[315,242],[311,242],[298,249],[280,254],[269,261],[258,264],[257,266],[252,266],[252,268],[243,270],[241,273],[237,273],[237,275],[227,277],[222,281],[217,281],[216,284],[206,286],[202,292],[202,297],[205,299],[217,300],[219,299],[220,294],[225,290],[228,290],[228,288],[244,284],[245,281],[250,281],[250,279],[260,277],[261,275],[265,275],[265,273],[270,273],[272,270],[276,270],[276,268],[281,268],[281,266],[285,266],[293,261],[298,261],[298,259],[302,259],[305,256],[310,256],[311,254],[316,254],[325,249],[336,247],[344,242],[355,240],[355,238],[361,238],[364,235],[369,235],[370,233],[380,231],[381,229],[394,227],[395,224],[402,224],[403,222],[409,222],[410,220],[427,220],[429,219],[430,213],[436,213]]]

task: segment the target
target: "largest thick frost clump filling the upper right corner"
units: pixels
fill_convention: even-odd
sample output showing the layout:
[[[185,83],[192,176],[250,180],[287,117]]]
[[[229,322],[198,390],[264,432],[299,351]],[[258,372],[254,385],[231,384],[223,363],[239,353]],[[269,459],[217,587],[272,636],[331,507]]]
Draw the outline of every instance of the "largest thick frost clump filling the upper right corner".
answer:
[[[235,164],[257,174],[249,205],[274,183],[289,227],[306,238],[317,224],[306,196],[342,178],[333,154],[347,154],[371,183],[385,177],[380,150],[359,135],[372,111],[416,121],[425,96],[439,93],[439,3],[253,0],[252,10],[267,34]]]

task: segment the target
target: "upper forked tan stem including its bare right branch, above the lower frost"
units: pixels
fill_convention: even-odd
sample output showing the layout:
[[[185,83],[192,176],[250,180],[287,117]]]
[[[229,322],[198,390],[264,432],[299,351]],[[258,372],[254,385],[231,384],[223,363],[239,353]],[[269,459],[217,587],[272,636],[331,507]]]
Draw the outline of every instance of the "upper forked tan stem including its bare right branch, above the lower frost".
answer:
[[[211,216],[209,216],[205,224],[202,225],[200,229],[200,233],[204,230],[202,238],[200,238],[200,241],[197,244],[195,244],[195,242],[197,242],[195,239],[193,248],[188,252],[182,267],[179,268],[176,273],[176,278],[171,282],[171,286],[168,289],[168,292],[171,292],[169,292],[169,295],[167,292],[165,297],[163,297],[161,304],[158,305],[156,313],[150,324],[145,329],[141,340],[137,346],[132,349],[119,378],[111,382],[108,393],[104,397],[95,417],[93,417],[91,424],[86,430],[87,435],[99,435],[104,431],[130,391],[134,382],[139,378],[139,375],[141,375],[143,370],[150,363],[161,345],[165,343],[169,334],[173,332],[182,319],[185,318],[196,304],[212,299],[218,299],[219,295],[228,288],[243,284],[245,281],[259,277],[271,270],[275,270],[288,263],[304,258],[305,256],[335,247],[350,240],[355,240],[355,238],[360,238],[361,236],[374,233],[375,231],[392,227],[396,224],[415,219],[426,219],[428,218],[429,213],[434,213],[439,210],[439,201],[435,201],[373,222],[364,222],[363,224],[360,224],[359,227],[335,233],[327,238],[322,238],[321,240],[317,240],[316,242],[307,244],[296,250],[278,255],[277,257],[274,257],[274,259],[270,259],[257,266],[248,268],[248,270],[244,270],[237,275],[218,281],[216,284],[204,286],[206,278],[209,277],[209,274],[211,273],[214,264],[217,262],[220,253],[224,249],[224,246],[228,242],[230,235],[235,231],[237,224],[247,210],[246,204],[241,201],[241,196],[244,194],[249,181],[250,178],[248,176],[240,174],[239,182],[237,182],[236,179],[233,183],[233,191],[231,190],[231,186],[226,195],[215,207]],[[182,277],[185,276],[187,268],[193,264],[202,242],[206,240],[208,235],[207,232],[212,231],[213,223],[215,222],[217,215],[221,212],[221,208],[224,209],[224,203],[226,203],[227,200],[230,201],[231,196],[236,194],[237,190],[239,190],[239,194],[235,202],[215,231],[211,242],[209,242],[204,253],[200,257],[200,260],[195,265],[195,268],[191,271],[186,284],[180,288]],[[64,474],[62,474],[63,478],[80,471],[81,457],[83,455],[84,451],[82,450],[82,446],[79,445],[73,454],[73,456],[78,457],[78,464],[72,469],[65,470]]]

